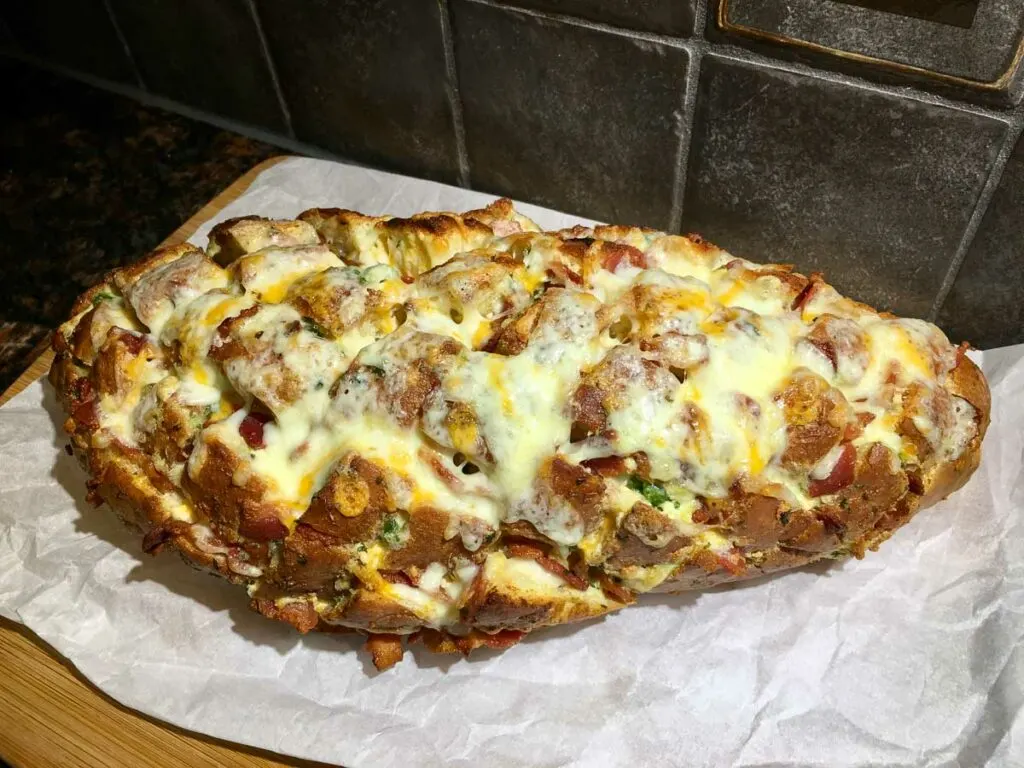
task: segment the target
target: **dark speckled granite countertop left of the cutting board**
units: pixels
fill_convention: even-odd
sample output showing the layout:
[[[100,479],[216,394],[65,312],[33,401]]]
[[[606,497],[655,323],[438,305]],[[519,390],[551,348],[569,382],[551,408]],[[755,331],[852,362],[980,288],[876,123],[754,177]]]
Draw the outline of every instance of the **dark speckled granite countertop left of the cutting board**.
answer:
[[[104,272],[278,147],[0,57],[0,391]]]

